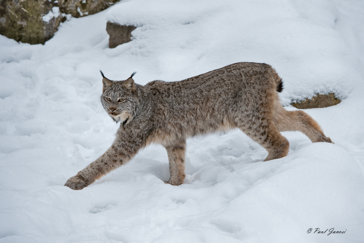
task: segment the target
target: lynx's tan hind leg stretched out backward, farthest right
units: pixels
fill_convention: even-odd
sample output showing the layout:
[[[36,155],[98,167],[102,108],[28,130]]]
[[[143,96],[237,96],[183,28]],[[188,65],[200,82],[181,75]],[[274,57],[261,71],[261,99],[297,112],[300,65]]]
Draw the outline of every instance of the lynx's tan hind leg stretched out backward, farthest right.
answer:
[[[279,105],[274,113],[274,124],[280,132],[300,131],[312,142],[332,143],[331,139],[325,136],[320,125],[304,111],[287,111]]]

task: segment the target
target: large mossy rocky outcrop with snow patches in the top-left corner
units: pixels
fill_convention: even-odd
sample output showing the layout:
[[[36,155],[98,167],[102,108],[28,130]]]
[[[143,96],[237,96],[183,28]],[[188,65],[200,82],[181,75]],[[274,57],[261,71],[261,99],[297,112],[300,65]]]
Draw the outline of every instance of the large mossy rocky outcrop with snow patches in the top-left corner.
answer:
[[[18,42],[44,44],[71,16],[100,12],[119,0],[1,0],[0,34]]]

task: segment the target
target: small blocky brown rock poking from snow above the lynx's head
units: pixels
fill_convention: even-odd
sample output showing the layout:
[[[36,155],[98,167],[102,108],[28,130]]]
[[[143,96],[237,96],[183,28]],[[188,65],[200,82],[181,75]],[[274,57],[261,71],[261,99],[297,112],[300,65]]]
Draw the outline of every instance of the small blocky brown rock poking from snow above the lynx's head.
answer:
[[[109,47],[115,48],[123,43],[130,42],[132,37],[131,31],[135,30],[135,28],[137,27],[120,25],[108,21],[106,23],[106,31],[110,35]]]

